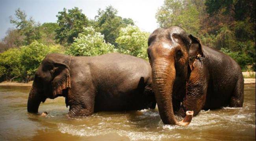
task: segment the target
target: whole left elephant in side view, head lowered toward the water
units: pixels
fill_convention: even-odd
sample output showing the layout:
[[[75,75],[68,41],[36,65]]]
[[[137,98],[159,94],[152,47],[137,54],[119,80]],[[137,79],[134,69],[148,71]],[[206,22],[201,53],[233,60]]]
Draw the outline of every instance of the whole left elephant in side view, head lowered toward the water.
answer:
[[[155,108],[151,83],[149,63],[134,56],[48,54],[35,73],[27,109],[37,113],[41,102],[58,96],[65,97],[70,117]]]

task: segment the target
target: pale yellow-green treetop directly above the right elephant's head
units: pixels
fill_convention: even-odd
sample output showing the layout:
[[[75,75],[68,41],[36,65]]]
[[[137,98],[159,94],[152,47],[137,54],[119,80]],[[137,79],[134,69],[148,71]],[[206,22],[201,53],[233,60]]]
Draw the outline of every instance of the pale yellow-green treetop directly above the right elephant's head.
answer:
[[[196,5],[191,1],[165,0],[163,6],[156,13],[156,19],[160,27],[168,28],[178,25],[188,33],[198,36],[200,28],[199,12]]]

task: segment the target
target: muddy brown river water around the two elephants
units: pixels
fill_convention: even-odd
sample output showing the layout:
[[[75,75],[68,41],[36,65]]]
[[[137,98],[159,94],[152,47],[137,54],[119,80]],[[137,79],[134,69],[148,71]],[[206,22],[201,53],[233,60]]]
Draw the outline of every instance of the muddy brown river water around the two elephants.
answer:
[[[255,85],[245,85],[243,108],[201,111],[187,127],[163,125],[158,109],[99,112],[67,118],[64,98],[27,113],[30,87],[0,86],[0,140],[255,140]]]

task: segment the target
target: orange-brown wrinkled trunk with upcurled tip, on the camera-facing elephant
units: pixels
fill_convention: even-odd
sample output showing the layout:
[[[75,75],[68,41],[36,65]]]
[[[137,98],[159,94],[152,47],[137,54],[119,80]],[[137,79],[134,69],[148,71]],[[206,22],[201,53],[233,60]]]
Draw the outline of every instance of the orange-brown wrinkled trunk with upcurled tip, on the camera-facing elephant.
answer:
[[[175,81],[175,67],[171,60],[155,60],[152,64],[153,89],[160,117],[164,124],[189,125],[193,111],[186,112],[186,117],[178,122],[174,117],[172,94]]]

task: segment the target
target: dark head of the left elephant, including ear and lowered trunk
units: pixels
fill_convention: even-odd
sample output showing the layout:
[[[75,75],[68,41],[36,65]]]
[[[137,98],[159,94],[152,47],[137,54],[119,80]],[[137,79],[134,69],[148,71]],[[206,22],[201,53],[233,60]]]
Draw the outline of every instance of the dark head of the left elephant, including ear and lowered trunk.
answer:
[[[28,96],[28,112],[37,113],[40,103],[45,102],[46,98],[66,95],[64,90],[70,88],[70,69],[65,61],[68,62],[69,57],[60,54],[48,55],[42,61]]]

